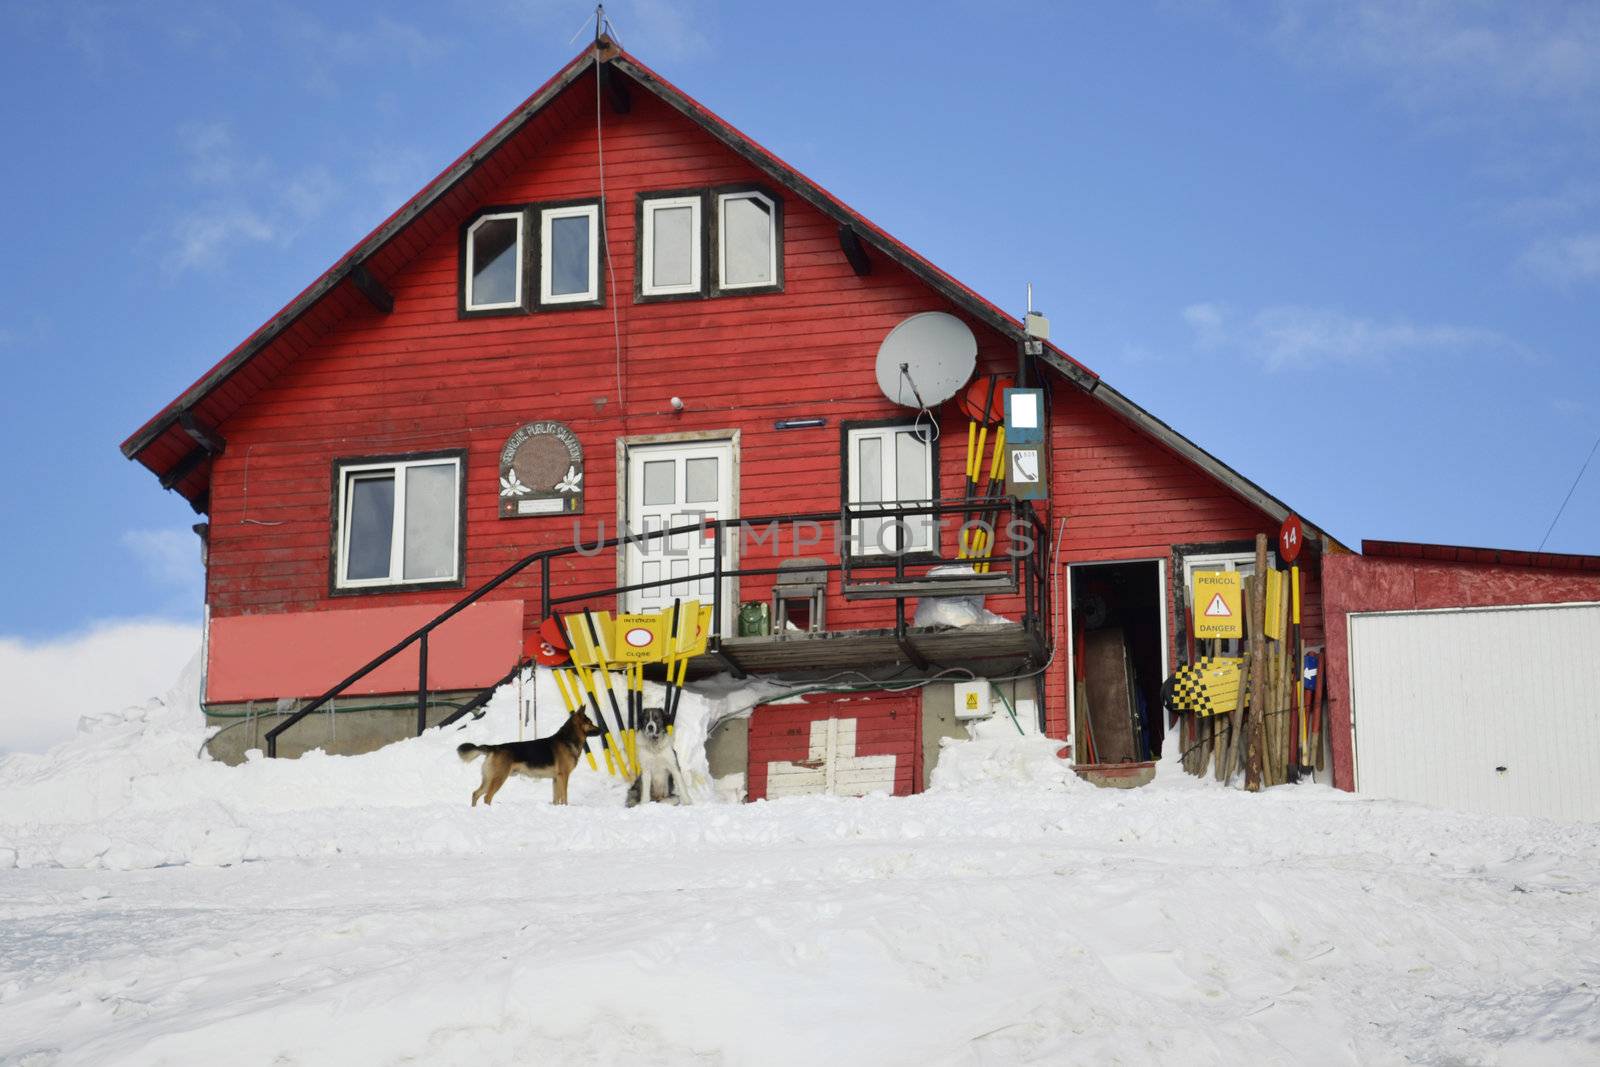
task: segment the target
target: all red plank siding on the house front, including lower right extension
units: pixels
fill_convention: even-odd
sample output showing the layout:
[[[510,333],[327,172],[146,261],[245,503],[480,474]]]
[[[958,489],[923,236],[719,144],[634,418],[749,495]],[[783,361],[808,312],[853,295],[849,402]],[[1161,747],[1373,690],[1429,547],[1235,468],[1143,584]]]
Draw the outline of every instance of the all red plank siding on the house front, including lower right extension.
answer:
[[[227,451],[210,469],[213,617],[443,606],[461,595],[451,589],[330,597],[331,466],[339,458],[466,448],[466,587],[472,589],[533,550],[573,542],[570,518],[498,517],[498,454],[526,421],[560,419],[584,445],[586,541],[597,537],[600,522],[606,536],[616,531],[619,437],[738,430],[739,509],[758,517],[835,510],[842,424],[909,421],[910,411],[878,394],[874,357],[907,315],[952,310],[949,302],[878,254],[870,275],[854,275],[832,219],[776,189],[650,93],[635,93],[626,115],[610,107],[603,115],[614,269],[614,277],[602,278],[608,306],[459,318],[458,237],[467,216],[486,205],[600,194],[590,77],[472,171],[443,200],[446,210],[430,211],[426,224],[419,219],[373,258],[373,272],[394,293],[392,314],[374,310],[344,283],[326,307],[274,341],[269,362],[246,365],[237,382],[206,400],[202,421],[219,421],[227,438]],[[637,194],[733,182],[782,195],[784,293],[635,304]],[[979,370],[1011,371],[1013,344],[970,315],[962,318],[978,338]],[[1069,518],[1062,563],[1170,558],[1173,544],[1275,534],[1275,522],[1069,382],[1053,378],[1053,392],[1054,501],[1046,515],[1051,530]],[[680,414],[670,410],[674,395],[686,405]],[[776,430],[773,422],[787,416],[829,422]],[[960,496],[962,416],[942,413],[941,434],[941,493]],[[181,430],[160,442],[174,459],[189,448]],[[944,549],[954,544],[954,533],[946,533]],[[790,547],[786,539],[784,550]],[[806,553],[834,558],[829,544]],[[611,585],[614,555],[563,558],[552,579],[558,592]],[[765,600],[768,585],[770,579],[746,579],[741,595]],[[1309,581],[1307,619],[1315,616],[1315,590]],[[494,597],[523,600],[531,622],[538,574],[530,569]],[[1019,617],[1022,598],[992,598],[987,606]],[[829,625],[890,625],[891,609],[834,595]],[[1064,672],[1066,656],[1058,656],[1046,678],[1048,721],[1058,736],[1066,726]]]

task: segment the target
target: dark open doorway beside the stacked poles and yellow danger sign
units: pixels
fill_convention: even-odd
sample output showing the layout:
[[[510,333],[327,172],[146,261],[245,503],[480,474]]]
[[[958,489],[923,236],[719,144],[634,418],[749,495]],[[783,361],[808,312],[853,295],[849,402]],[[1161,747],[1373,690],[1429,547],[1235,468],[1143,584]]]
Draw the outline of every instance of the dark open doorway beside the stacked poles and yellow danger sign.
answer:
[[[1072,632],[1083,673],[1075,683],[1082,696],[1098,697],[1088,701],[1088,726],[1104,741],[1093,753],[1098,763],[1162,755],[1162,601],[1154,560],[1072,568]]]

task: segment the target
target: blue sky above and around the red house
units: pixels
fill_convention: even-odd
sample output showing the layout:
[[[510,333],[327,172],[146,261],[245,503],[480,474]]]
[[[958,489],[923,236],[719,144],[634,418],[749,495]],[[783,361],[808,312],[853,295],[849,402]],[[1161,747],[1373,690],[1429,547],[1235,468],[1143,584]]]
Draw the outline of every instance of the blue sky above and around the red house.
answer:
[[[0,0],[0,637],[198,617],[117,443],[590,6]],[[622,43],[1339,537],[1533,547],[1600,434],[1600,8],[618,0]],[[1600,550],[1600,461],[1549,549]]]

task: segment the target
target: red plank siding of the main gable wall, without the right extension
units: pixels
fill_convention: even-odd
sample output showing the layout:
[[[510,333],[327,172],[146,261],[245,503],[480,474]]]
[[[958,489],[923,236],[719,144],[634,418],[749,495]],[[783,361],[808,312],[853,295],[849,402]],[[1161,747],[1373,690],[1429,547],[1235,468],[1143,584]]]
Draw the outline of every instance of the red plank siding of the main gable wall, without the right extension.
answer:
[[[581,85],[573,93],[582,98]],[[784,293],[634,304],[635,194],[770,182],[648,94],[635,96],[627,115],[606,112],[605,150],[616,270],[611,307],[461,320],[458,230],[448,227],[389,280],[392,314],[352,307],[226,422],[229,448],[213,470],[208,598],[214,614],[352,601],[442,603],[459,595],[328,597],[330,478],[341,456],[467,448],[467,587],[526,552],[570,544],[571,520],[501,520],[496,514],[499,448],[530,419],[562,419],[582,440],[582,530],[590,541],[598,520],[614,533],[619,435],[739,430],[742,514],[837,509],[840,424],[912,414],[877,390],[878,342],[906,315],[947,309],[946,302],[882,259],[872,275],[856,277],[838,250],[837,226],[786,197]],[[488,203],[597,194],[590,112],[475,202],[462,202],[459,218]],[[613,309],[622,333],[621,403]],[[970,325],[986,363],[1003,366],[1014,358],[1008,342]],[[672,395],[683,397],[685,413],[672,414]],[[774,419],[795,414],[824,414],[829,424],[773,429]],[[965,426],[949,416],[942,429],[941,480],[944,493],[955,496]],[[829,555],[824,547],[814,553]],[[614,557],[565,560],[555,577],[568,589],[610,585]],[[765,598],[765,584],[747,584],[746,597]],[[536,576],[522,576],[502,595],[525,598],[536,611]],[[1019,611],[1019,603],[994,606]],[[885,605],[843,600],[829,605],[829,617],[835,627],[890,624]]]

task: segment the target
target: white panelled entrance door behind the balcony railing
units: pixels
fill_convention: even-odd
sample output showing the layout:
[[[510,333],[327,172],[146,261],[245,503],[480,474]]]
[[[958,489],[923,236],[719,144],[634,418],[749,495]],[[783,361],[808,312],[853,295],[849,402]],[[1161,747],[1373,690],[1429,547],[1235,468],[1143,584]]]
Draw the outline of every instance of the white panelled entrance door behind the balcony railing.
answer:
[[[709,518],[736,518],[733,514],[733,442],[674,442],[629,445],[627,448],[627,530],[630,534],[674,530]],[[723,566],[736,566],[738,530],[723,531]],[[683,581],[627,595],[629,611],[670,608],[674,598],[712,600],[715,541],[710,530],[630,542],[624,550],[626,582]],[[696,577],[698,576],[698,577]],[[723,581],[722,633],[738,611],[738,582]]]

